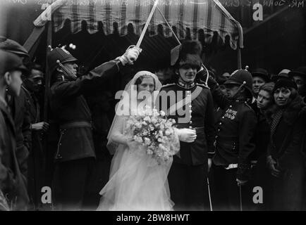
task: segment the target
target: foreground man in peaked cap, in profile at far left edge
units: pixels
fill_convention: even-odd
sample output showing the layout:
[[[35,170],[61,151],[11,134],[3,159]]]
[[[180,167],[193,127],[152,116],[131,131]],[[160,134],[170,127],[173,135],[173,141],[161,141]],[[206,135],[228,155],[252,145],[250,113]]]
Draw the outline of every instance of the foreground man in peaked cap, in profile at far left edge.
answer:
[[[12,210],[26,210],[28,203],[25,179],[16,156],[15,124],[6,102],[6,89],[15,96],[20,94],[23,72],[27,70],[18,56],[0,50],[0,210],[9,210],[1,208],[6,200],[6,206],[11,205]]]

